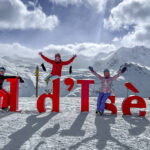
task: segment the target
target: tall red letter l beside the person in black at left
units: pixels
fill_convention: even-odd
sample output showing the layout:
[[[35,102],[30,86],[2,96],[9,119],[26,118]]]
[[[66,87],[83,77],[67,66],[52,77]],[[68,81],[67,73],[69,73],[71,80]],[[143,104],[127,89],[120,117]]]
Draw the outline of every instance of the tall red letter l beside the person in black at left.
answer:
[[[9,78],[10,82],[10,111],[17,111],[18,109],[18,95],[19,95],[19,80],[18,78]]]

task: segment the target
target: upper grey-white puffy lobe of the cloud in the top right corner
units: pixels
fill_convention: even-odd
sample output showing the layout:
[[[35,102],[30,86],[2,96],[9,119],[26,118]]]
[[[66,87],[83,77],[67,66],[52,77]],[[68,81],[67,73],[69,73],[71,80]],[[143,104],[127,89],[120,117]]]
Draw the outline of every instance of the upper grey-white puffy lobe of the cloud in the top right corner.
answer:
[[[119,30],[130,25],[149,24],[150,0],[124,0],[111,10],[108,19],[104,20],[106,28]]]

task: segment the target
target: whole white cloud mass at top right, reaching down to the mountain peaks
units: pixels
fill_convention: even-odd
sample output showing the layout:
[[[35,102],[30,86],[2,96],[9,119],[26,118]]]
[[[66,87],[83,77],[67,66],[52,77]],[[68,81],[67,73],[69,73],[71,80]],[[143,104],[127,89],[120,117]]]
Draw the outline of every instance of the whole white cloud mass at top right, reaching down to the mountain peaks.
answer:
[[[104,27],[112,31],[128,31],[121,39],[122,45],[150,46],[149,4],[150,0],[123,0],[111,10],[109,18],[104,20]]]

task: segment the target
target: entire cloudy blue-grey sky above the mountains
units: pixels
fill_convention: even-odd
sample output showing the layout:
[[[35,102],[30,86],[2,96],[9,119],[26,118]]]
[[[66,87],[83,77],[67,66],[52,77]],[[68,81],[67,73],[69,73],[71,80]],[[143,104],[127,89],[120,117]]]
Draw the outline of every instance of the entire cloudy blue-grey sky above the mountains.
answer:
[[[150,0],[0,0],[0,51],[16,45],[20,51],[150,47]]]

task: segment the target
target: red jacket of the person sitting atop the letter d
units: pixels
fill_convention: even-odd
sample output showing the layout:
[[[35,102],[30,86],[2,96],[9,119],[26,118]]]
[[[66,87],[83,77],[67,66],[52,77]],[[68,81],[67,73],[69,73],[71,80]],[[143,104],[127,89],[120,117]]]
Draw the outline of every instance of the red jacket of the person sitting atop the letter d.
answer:
[[[60,61],[60,62],[56,62],[55,60],[51,60],[47,57],[45,57],[43,54],[41,54],[41,57],[47,61],[48,63],[52,64],[53,67],[52,67],[52,72],[51,74],[52,75],[58,75],[58,76],[61,76],[61,70],[62,70],[62,67],[64,65],[69,65],[74,59],[75,57],[72,57],[70,60],[68,61]]]

